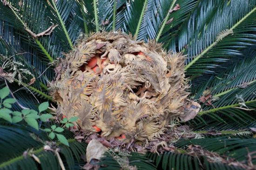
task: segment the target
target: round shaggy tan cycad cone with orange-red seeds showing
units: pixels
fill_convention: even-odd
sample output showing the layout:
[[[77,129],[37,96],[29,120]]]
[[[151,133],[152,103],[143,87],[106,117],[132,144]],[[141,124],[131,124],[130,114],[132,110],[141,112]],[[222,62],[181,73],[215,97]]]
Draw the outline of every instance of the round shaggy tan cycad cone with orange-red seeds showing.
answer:
[[[57,113],[78,117],[88,134],[145,144],[183,118],[188,86],[184,57],[123,33],[80,39],[56,70]]]

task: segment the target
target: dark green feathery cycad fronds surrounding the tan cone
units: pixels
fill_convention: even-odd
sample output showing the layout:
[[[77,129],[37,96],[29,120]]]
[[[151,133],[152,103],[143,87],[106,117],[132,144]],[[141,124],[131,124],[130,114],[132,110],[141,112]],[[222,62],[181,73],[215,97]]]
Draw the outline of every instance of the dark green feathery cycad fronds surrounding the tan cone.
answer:
[[[176,4],[180,9],[170,13]],[[41,33],[52,25],[58,26],[51,35],[34,38],[27,32]],[[17,74],[14,82],[8,83],[11,92],[22,87],[21,78],[20,84],[26,88],[14,93],[21,105],[36,110],[39,103],[51,102],[47,82],[54,78],[54,60],[72,50],[81,33],[119,29],[138,40],[155,39],[166,50],[187,54],[185,70],[191,80],[191,98],[198,100],[205,90],[215,98],[212,105],[202,104],[198,116],[186,123],[204,138],[179,140],[175,146],[186,149],[189,144],[201,145],[247,163],[247,154],[256,150],[249,131],[256,127],[256,0],[1,0],[0,65],[4,65],[5,56],[12,63],[21,63],[18,68],[27,69],[36,78],[29,85],[32,76]],[[4,86],[0,79],[0,88]],[[13,109],[20,111],[17,104]],[[43,149],[49,140],[47,133],[26,124],[0,121],[0,169],[61,168],[54,152]],[[41,124],[46,128],[51,125]],[[205,135],[212,130],[218,135]],[[56,145],[64,166],[81,169],[84,162],[80,155],[85,153],[86,144],[76,142],[69,131],[62,134],[69,147]],[[22,155],[32,149],[30,153],[40,164]],[[185,153],[131,154],[128,159],[138,169],[241,169]],[[111,156],[103,163],[108,165],[104,169],[120,169]]]

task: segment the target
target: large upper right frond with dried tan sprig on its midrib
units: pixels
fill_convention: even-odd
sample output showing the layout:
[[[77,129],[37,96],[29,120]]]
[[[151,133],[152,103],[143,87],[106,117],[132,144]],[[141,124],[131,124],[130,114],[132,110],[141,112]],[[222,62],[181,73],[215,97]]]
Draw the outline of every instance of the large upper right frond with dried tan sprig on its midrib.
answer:
[[[222,4],[222,7],[219,5],[218,9],[215,9],[215,3]],[[219,59],[240,55],[241,52],[231,49],[251,45],[250,42],[254,41],[255,35],[249,32],[255,29],[255,25],[251,24],[245,28],[244,24],[251,23],[255,18],[255,1],[247,1],[243,8],[240,3],[243,2],[234,0],[228,4],[223,1],[204,1],[198,11],[195,10],[191,15],[189,26],[184,26],[180,34],[180,37],[186,38],[181,37],[179,41],[180,50],[188,45],[188,65],[185,67],[187,75],[195,76],[204,72],[206,65],[202,64],[207,64],[209,58],[220,62]],[[204,11],[200,12],[201,8]],[[216,39],[216,36],[227,28],[234,34],[226,36],[222,41]],[[214,66],[209,63],[207,65]]]

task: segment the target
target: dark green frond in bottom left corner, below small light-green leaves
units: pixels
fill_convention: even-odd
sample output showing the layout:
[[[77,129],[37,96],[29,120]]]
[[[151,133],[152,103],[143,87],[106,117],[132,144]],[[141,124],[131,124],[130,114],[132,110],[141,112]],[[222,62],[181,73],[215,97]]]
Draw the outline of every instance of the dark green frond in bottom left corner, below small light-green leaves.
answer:
[[[60,160],[56,157],[56,153],[46,150],[46,146],[48,149],[55,147],[46,143],[48,140],[46,132],[18,124],[11,125],[3,122],[1,124],[0,150],[3,153],[0,157],[1,169],[37,170],[41,167],[43,170],[56,170],[60,168]],[[83,162],[80,155],[85,154],[86,144],[76,142],[69,131],[65,131],[64,135],[69,138],[69,147],[60,143],[56,143],[56,147],[60,149],[61,160],[67,165],[66,168],[73,169],[74,159],[76,162]],[[40,163],[36,161],[36,157]]]

